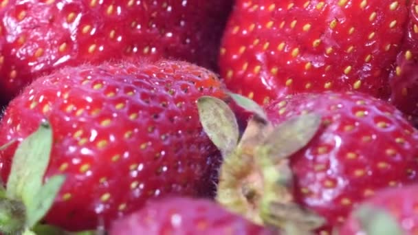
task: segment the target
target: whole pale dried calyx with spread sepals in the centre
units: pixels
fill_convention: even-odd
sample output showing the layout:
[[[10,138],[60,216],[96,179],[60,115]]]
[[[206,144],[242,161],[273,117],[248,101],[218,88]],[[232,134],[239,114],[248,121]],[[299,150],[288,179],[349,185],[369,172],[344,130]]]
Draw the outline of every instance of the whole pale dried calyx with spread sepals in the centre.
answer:
[[[228,135],[236,133],[237,127],[227,104],[208,97],[198,101],[203,129],[224,153],[217,201],[254,223],[309,234],[324,220],[294,202],[289,157],[316,135],[321,117],[308,113],[273,126],[263,108],[254,101],[236,94],[232,94],[231,98],[254,113],[241,138],[235,134]],[[207,118],[207,107],[221,111]],[[229,132],[220,134],[222,130]],[[225,147],[225,143],[230,144]],[[232,143],[236,144],[232,146]]]

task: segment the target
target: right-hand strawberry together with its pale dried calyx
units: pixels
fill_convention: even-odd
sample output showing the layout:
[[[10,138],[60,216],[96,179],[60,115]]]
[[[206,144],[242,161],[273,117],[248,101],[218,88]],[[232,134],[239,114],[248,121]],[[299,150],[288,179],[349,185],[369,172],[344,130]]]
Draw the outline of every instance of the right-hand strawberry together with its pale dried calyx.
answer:
[[[292,219],[289,211],[294,220],[314,212],[327,221],[320,231],[330,232],[376,190],[418,182],[418,131],[391,104],[364,93],[331,91],[273,100],[265,113],[245,102],[256,115],[237,147],[236,138],[217,141],[216,131],[227,128],[207,124],[228,122],[201,120],[214,144],[229,153],[217,199],[248,219],[278,223]],[[219,143],[231,143],[229,150]],[[266,200],[275,201],[278,211],[271,212],[275,207]],[[267,217],[260,218],[260,211]],[[274,214],[272,221],[268,214]]]

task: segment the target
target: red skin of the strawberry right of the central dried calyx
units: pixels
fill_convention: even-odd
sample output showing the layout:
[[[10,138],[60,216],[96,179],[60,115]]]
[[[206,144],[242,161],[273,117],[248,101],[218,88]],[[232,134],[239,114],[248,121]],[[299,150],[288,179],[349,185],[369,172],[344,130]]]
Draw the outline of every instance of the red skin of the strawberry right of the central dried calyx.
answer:
[[[274,123],[302,112],[322,115],[320,131],[292,155],[291,167],[296,201],[327,219],[323,230],[331,232],[375,190],[418,182],[418,131],[382,100],[362,93],[299,94],[266,109]]]

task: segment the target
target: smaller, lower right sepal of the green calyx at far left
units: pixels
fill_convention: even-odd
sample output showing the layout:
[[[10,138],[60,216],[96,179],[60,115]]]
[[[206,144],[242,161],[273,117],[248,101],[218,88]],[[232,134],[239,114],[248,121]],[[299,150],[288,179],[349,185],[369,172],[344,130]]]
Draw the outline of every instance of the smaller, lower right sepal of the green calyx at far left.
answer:
[[[50,210],[52,203],[65,181],[63,175],[56,175],[40,188],[38,195],[26,202],[26,226],[33,227]]]

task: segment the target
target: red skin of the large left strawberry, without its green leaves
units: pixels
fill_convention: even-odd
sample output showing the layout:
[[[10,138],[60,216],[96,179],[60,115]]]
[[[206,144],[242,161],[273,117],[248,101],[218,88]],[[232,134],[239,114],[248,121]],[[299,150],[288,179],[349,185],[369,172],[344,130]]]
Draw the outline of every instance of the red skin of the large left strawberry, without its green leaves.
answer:
[[[66,68],[35,80],[10,102],[0,145],[49,120],[54,144],[45,178],[67,179],[45,220],[94,230],[152,197],[213,194],[221,156],[199,122],[195,101],[203,95],[225,96],[214,74],[188,63]],[[14,149],[0,155],[3,179]]]

